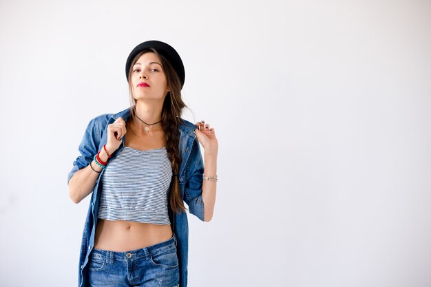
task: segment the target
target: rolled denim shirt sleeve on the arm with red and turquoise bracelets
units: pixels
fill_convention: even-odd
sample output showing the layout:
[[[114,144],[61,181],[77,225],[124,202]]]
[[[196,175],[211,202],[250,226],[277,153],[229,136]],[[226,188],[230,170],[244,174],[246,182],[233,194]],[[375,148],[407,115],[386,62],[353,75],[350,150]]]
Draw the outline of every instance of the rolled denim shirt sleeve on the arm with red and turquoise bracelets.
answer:
[[[83,169],[84,167],[87,167],[88,164],[90,164],[94,155],[98,151],[100,131],[98,130],[96,121],[97,118],[90,120],[90,123],[87,125],[87,129],[85,129],[83,139],[78,147],[78,151],[81,153],[81,156],[78,156],[73,162],[72,171],[70,171],[69,175],[67,176],[67,184],[69,184],[70,179],[74,173],[76,173],[76,171]]]

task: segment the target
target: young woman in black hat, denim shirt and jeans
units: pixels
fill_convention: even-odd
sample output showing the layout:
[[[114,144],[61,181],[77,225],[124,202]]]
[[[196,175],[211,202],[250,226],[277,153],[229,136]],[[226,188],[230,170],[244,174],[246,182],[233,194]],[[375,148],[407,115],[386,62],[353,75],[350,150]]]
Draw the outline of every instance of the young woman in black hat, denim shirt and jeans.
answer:
[[[126,76],[131,107],[90,121],[68,176],[73,202],[92,193],[78,286],[186,287],[184,202],[213,217],[218,140],[208,123],[180,117],[185,70],[173,47],[140,43]]]

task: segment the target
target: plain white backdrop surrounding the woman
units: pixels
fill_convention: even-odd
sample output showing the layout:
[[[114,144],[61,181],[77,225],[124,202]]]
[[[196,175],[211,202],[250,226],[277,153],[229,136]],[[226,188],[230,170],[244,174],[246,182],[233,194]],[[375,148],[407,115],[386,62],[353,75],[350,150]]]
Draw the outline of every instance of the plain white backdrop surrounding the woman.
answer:
[[[430,1],[2,0],[0,39],[1,286],[77,285],[67,173],[151,39],[220,145],[190,287],[431,286]]]

